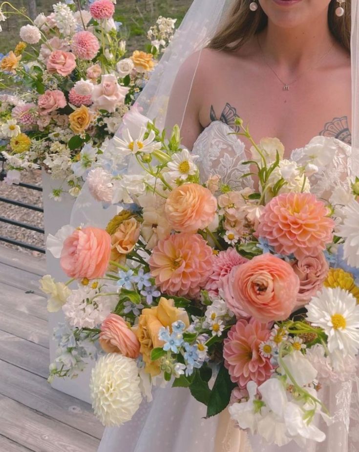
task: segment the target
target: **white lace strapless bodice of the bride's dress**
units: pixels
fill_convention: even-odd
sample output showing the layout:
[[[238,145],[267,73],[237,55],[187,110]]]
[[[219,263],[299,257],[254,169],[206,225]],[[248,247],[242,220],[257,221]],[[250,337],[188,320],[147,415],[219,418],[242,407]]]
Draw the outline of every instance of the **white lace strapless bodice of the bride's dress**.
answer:
[[[193,145],[193,154],[198,155],[196,161],[201,176],[205,181],[209,176],[217,174],[222,182],[231,188],[253,186],[248,173],[248,165],[242,162],[248,160],[245,144],[237,135],[231,134],[231,127],[221,121],[212,122],[197,138]],[[337,186],[349,187],[351,175],[351,147],[336,138],[316,136],[304,148],[291,152],[290,159],[304,165],[311,157],[311,151],[317,146],[325,146],[326,151],[318,159],[319,171],[310,178],[311,192],[319,198],[326,197],[330,189]]]

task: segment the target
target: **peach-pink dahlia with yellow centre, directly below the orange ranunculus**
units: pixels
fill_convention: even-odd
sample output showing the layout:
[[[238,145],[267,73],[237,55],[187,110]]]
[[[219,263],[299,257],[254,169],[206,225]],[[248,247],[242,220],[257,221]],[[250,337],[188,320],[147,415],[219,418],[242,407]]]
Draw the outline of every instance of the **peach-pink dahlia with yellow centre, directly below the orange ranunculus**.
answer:
[[[199,234],[181,232],[160,240],[148,263],[162,292],[195,297],[212,273],[212,249]]]

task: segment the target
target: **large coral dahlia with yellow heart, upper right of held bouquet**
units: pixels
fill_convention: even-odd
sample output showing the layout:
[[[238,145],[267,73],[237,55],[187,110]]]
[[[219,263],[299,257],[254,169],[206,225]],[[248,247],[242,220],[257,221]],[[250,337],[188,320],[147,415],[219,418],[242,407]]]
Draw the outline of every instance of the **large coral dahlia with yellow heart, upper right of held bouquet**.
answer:
[[[258,237],[280,254],[297,259],[317,256],[333,239],[329,209],[311,193],[283,193],[268,203],[259,219]]]

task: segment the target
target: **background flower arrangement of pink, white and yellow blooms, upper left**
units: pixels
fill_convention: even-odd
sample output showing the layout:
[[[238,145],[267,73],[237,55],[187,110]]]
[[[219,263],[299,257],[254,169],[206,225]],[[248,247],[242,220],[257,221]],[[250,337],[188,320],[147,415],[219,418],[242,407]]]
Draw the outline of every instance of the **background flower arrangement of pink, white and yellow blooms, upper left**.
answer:
[[[59,2],[35,21],[11,3],[0,3],[0,24],[9,14],[29,21],[20,29],[21,41],[0,56],[0,151],[8,182],[41,165],[63,181],[52,192],[55,200],[66,190],[77,196],[100,146],[144,88],[175,21],[160,17],[148,34],[148,53],[135,50],[125,58],[114,3],[95,0],[81,9],[80,2],[78,8]],[[5,5],[11,8],[6,13]]]

